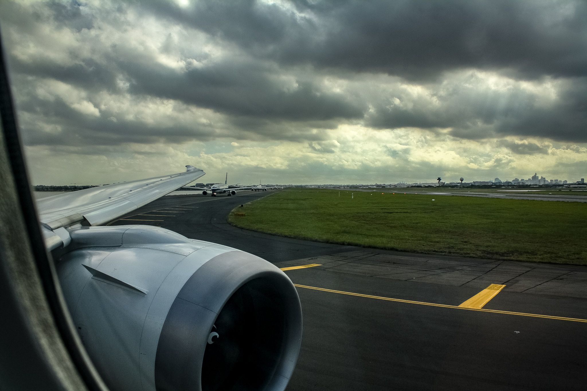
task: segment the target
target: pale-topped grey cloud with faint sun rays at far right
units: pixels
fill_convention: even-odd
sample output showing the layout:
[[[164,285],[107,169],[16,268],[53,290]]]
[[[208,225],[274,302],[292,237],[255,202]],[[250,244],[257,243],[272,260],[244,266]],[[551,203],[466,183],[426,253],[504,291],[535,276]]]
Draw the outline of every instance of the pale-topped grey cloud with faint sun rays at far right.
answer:
[[[534,91],[519,86],[488,90],[474,79],[455,80],[448,89],[430,88],[434,103],[401,89],[380,98],[366,123],[375,128],[452,128],[455,137],[475,140],[518,135],[587,142],[587,77],[562,83],[561,93],[548,104]]]

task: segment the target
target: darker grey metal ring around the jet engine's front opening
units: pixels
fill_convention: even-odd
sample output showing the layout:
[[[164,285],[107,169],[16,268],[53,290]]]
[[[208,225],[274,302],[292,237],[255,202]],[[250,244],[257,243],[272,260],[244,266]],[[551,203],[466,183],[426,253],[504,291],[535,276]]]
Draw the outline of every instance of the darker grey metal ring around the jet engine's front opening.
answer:
[[[201,390],[201,370],[208,335],[227,301],[245,284],[266,279],[282,295],[285,335],[281,356],[267,389],[285,389],[298,358],[302,313],[289,278],[267,261],[242,251],[212,258],[188,279],[168,311],[157,344],[155,385],[159,391]]]

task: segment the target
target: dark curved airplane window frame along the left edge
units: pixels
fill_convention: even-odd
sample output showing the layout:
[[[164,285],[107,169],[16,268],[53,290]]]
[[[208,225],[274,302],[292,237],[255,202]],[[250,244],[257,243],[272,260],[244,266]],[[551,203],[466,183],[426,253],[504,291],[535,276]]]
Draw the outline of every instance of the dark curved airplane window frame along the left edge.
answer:
[[[0,36],[0,293],[5,297],[0,331],[0,384],[11,389],[107,391],[73,327],[55,267],[39,227]],[[4,145],[1,145],[4,144]],[[6,232],[21,242],[8,240]],[[22,293],[26,294],[22,294]],[[35,308],[35,314],[27,310]],[[33,319],[36,318],[36,319]],[[44,354],[43,354],[44,353]],[[69,360],[68,360],[69,358]]]

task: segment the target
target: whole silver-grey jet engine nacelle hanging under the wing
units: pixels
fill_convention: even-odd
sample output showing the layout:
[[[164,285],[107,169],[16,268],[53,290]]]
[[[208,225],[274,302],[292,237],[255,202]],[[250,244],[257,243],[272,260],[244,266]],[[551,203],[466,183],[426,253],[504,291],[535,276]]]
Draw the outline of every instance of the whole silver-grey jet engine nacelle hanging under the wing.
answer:
[[[85,227],[70,236],[58,275],[111,390],[285,389],[302,314],[277,267],[160,227]]]

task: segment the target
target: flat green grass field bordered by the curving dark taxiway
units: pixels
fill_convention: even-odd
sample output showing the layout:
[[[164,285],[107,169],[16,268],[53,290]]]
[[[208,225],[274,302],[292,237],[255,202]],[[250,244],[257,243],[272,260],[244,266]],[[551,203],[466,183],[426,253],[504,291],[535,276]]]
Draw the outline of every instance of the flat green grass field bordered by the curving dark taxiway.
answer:
[[[234,211],[246,216],[231,213],[232,225],[298,239],[587,264],[587,204],[579,202],[285,189]]]

